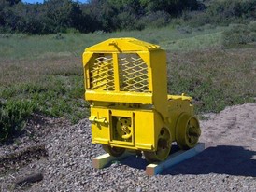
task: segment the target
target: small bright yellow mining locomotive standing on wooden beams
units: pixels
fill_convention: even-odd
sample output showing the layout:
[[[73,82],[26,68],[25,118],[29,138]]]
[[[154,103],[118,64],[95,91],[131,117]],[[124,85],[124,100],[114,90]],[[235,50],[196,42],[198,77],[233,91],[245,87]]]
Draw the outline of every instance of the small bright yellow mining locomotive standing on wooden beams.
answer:
[[[166,54],[135,38],[112,38],[83,53],[92,143],[111,156],[143,151],[163,161],[173,142],[192,148],[201,134],[192,98],[167,94]]]

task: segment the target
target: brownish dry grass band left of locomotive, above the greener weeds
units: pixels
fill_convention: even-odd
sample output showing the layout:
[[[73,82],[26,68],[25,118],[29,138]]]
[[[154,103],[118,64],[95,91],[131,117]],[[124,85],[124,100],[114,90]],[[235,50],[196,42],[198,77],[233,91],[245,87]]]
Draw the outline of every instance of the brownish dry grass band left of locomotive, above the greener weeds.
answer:
[[[82,75],[78,57],[0,61],[0,87],[43,81],[45,75]],[[43,83],[43,82],[41,82]]]

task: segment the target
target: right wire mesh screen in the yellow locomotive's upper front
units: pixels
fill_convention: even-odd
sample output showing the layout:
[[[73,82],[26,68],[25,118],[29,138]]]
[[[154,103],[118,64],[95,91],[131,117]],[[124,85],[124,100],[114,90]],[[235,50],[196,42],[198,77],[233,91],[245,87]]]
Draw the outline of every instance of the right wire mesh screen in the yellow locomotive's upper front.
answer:
[[[120,54],[119,73],[121,91],[149,91],[148,66],[137,54]]]

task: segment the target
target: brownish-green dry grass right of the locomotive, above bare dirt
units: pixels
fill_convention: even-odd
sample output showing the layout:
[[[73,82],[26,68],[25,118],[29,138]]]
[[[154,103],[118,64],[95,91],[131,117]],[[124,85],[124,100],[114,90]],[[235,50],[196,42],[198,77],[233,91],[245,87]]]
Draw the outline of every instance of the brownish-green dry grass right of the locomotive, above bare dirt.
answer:
[[[169,54],[169,90],[192,95],[199,111],[218,112],[256,96],[256,48]]]

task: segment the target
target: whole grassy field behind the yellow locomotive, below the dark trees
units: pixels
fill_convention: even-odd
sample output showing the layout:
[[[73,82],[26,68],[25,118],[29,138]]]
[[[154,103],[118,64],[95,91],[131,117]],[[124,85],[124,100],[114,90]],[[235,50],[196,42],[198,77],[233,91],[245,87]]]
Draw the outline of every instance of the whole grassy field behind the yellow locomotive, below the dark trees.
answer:
[[[22,124],[32,112],[66,117],[74,123],[88,117],[81,54],[95,43],[121,36],[167,50],[169,93],[191,95],[198,114],[255,102],[256,46],[224,48],[221,39],[226,28],[170,26],[113,34],[1,35],[1,118],[9,118],[12,125]]]

